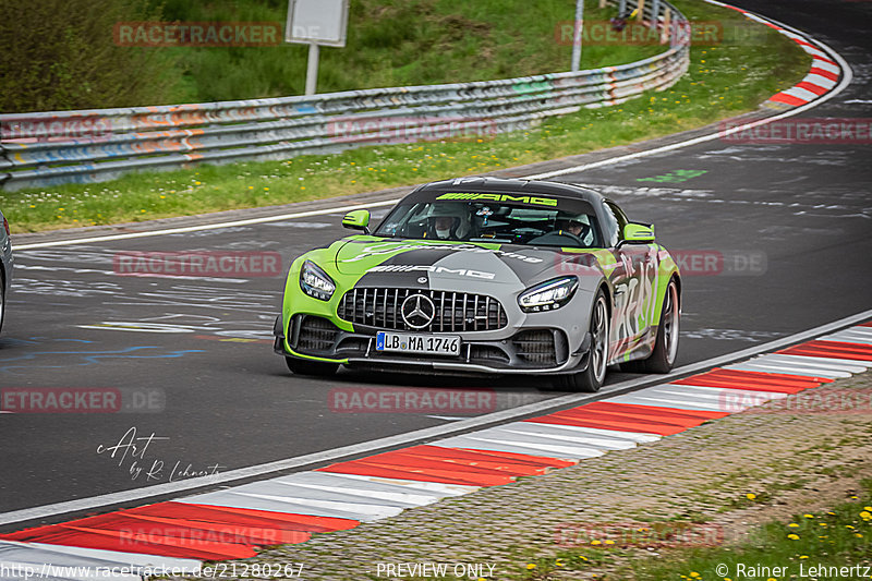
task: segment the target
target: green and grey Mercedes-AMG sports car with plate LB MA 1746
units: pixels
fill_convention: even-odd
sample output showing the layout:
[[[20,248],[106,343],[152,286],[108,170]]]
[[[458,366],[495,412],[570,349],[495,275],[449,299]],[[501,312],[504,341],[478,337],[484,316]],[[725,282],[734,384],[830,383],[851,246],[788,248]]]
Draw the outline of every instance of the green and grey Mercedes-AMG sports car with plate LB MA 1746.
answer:
[[[554,376],[596,391],[606,367],[675,363],[678,267],[611,201],[495,178],[428,183],[370,230],[296,258],[275,351],[294,374],[339,365]]]

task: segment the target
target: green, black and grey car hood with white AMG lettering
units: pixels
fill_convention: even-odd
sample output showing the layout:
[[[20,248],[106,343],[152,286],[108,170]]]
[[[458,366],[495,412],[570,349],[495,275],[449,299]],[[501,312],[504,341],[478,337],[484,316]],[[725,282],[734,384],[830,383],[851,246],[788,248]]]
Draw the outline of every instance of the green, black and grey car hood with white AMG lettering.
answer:
[[[558,249],[367,237],[342,244],[336,253],[336,268],[342,275],[359,278],[358,286],[426,285],[433,289],[476,292],[493,286],[524,289],[541,280],[582,270],[591,275],[602,273],[593,266],[595,259],[579,261],[580,257],[584,254],[567,254]],[[596,276],[595,281],[600,278]]]

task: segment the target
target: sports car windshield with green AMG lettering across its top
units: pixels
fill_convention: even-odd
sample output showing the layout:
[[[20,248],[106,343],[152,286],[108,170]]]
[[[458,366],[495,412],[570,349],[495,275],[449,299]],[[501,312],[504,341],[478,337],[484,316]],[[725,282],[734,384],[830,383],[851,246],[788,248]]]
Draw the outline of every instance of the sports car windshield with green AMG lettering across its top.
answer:
[[[487,195],[496,199],[457,199],[463,195]],[[506,197],[523,197],[524,201],[501,199]],[[531,199],[538,204],[529,202]],[[555,198],[508,194],[443,194],[436,199],[400,204],[378,226],[375,235],[531,246],[601,247],[593,208],[581,199],[561,198],[559,207],[557,202]]]

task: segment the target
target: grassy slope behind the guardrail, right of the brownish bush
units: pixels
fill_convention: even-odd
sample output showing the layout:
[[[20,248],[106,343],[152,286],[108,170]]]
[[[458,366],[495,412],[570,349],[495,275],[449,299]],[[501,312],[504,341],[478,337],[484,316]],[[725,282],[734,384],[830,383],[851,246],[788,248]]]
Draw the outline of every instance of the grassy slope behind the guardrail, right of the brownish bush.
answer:
[[[588,19],[607,20],[588,0]],[[166,0],[164,19],[187,22],[278,22],[287,0]],[[318,92],[508,78],[569,70],[572,47],[558,23],[572,21],[567,0],[354,0],[344,48],[320,50]],[[169,102],[281,97],[303,93],[308,48],[169,50],[182,73]],[[654,46],[589,47],[584,68],[632,62]],[[149,104],[150,105],[150,104]]]

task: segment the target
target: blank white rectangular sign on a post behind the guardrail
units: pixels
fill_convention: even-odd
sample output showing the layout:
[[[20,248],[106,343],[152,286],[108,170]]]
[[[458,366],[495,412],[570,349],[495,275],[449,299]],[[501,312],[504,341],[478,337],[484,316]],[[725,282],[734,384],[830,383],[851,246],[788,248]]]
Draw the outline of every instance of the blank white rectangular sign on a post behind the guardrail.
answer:
[[[318,82],[318,47],[344,47],[349,0],[288,0],[284,41],[308,45],[306,95]]]

